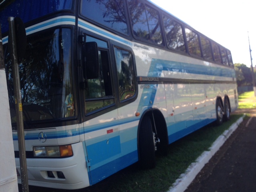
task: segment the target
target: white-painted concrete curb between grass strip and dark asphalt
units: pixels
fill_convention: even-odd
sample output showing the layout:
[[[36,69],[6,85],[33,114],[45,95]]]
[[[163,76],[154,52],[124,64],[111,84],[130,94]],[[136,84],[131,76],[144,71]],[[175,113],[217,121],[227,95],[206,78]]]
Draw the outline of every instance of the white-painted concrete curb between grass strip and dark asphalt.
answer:
[[[245,116],[245,115],[244,115]],[[172,184],[172,187],[167,192],[183,192],[194,180],[196,175],[204,167],[206,163],[214,156],[214,154],[220,149],[229,136],[238,128],[238,125],[243,121],[244,116],[240,117],[235,123],[233,123],[228,130],[225,130],[209,148],[209,151],[204,151],[197,159],[196,162],[191,163],[188,166],[185,173]]]

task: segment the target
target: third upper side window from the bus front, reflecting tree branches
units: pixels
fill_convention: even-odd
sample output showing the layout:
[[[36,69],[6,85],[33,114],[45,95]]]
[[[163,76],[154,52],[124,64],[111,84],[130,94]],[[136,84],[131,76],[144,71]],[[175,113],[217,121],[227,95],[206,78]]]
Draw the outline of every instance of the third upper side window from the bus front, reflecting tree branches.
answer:
[[[186,52],[182,26],[167,16],[163,16],[163,22],[167,46],[172,49]]]

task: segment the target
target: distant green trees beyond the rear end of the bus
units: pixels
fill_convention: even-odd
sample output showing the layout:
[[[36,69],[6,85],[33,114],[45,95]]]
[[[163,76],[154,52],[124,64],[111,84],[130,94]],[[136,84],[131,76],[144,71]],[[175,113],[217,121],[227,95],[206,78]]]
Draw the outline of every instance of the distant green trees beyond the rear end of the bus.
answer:
[[[252,85],[252,72],[245,64],[235,63],[236,82],[238,86]]]

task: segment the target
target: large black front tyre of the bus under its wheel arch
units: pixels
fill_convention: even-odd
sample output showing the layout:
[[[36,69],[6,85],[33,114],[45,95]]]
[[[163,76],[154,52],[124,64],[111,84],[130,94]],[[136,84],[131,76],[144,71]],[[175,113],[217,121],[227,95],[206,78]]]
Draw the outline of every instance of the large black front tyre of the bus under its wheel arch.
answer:
[[[143,169],[151,169],[156,166],[155,141],[152,123],[148,116],[142,119],[139,130],[140,166]]]

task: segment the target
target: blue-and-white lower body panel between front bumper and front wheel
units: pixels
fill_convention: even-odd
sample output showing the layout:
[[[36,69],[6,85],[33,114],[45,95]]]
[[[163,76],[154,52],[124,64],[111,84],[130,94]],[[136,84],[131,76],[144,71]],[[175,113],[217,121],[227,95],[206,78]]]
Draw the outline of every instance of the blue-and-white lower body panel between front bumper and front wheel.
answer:
[[[126,115],[134,108],[129,105],[122,107]],[[86,164],[91,185],[138,161],[138,120],[135,115],[119,120],[117,110],[114,110],[84,123]]]

